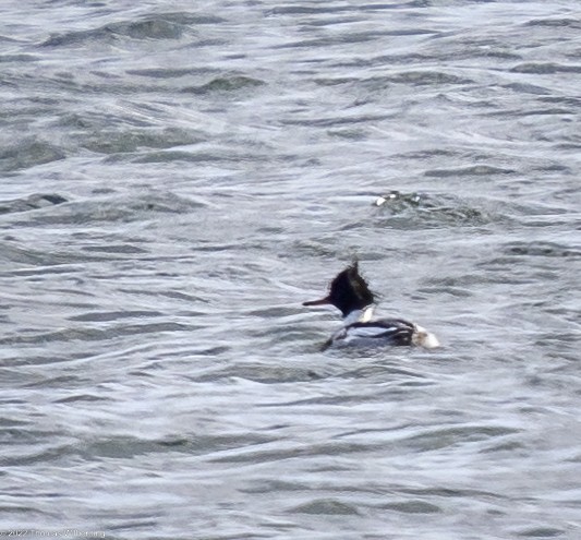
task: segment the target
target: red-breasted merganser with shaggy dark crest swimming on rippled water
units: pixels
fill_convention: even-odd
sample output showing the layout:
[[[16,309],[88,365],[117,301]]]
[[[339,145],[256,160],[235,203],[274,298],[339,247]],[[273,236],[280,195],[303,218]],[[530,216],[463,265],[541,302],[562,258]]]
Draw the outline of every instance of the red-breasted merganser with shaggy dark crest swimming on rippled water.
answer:
[[[373,292],[359,274],[356,261],[337,274],[329,287],[329,293],[320,300],[303,302],[303,305],[331,304],[343,315],[343,327],[325,344],[331,345],[419,345],[426,349],[439,347],[438,338],[417,324],[402,319],[379,319],[372,321],[374,311]]]

